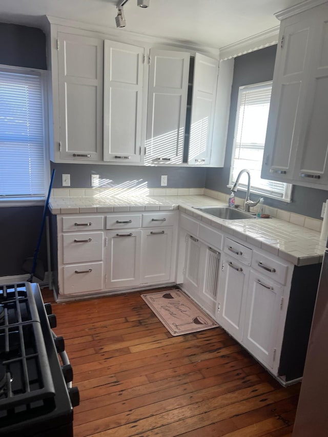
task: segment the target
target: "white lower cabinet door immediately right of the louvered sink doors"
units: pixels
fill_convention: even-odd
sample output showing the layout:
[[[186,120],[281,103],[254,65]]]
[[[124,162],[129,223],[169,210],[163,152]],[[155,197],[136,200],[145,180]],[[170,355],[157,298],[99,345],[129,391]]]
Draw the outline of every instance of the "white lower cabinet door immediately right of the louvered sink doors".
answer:
[[[223,255],[221,270],[217,322],[241,341],[249,267]]]

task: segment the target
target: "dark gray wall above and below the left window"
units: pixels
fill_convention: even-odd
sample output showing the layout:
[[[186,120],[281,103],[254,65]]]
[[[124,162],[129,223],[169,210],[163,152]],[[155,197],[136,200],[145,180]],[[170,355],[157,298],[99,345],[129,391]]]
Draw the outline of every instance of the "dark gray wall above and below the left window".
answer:
[[[0,23],[0,64],[46,69],[45,34],[40,29]],[[34,255],[42,213],[43,206],[0,207],[0,276],[25,273],[22,264]],[[46,266],[45,238],[39,259]]]

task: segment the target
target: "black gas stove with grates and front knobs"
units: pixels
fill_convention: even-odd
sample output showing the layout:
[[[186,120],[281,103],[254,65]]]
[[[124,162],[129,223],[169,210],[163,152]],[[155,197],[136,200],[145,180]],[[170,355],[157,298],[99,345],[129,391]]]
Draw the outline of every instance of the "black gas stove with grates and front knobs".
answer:
[[[79,396],[55,325],[37,284],[0,286],[0,436],[73,436]]]

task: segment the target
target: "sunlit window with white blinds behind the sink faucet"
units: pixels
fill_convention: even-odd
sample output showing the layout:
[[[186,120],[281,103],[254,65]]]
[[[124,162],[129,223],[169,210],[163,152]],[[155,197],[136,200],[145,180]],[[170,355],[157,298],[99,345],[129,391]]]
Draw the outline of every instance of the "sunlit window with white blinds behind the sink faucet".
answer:
[[[240,170],[249,169],[252,193],[290,201],[291,184],[261,179],[271,90],[272,82],[239,88],[229,185],[233,185]],[[241,176],[238,188],[247,188],[247,175]]]

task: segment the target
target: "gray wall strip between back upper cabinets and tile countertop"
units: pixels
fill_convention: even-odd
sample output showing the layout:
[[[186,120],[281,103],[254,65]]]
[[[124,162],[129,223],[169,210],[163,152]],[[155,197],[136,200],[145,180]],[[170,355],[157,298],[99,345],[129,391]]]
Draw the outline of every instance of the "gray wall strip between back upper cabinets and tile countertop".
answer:
[[[186,167],[138,167],[137,165],[92,165],[92,164],[57,164],[51,162],[55,169],[54,188],[61,188],[61,175],[69,174],[71,188],[90,188],[91,175],[99,175],[104,188],[115,187],[130,181],[133,188],[147,184],[148,188],[160,188],[160,176],[168,176],[167,188],[203,188],[206,181],[205,168]]]

